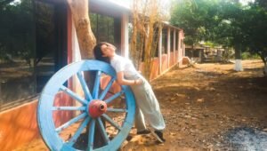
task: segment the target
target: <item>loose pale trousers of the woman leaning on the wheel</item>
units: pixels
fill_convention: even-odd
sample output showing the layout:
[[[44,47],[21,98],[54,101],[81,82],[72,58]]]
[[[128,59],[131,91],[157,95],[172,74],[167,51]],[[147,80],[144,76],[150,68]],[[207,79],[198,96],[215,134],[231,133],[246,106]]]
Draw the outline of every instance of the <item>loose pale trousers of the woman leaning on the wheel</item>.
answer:
[[[166,127],[163,116],[160,112],[158,99],[156,98],[150,83],[141,75],[128,76],[126,79],[141,78],[143,83],[131,85],[136,101],[135,127],[137,131],[146,129],[145,121],[154,130],[163,131]]]

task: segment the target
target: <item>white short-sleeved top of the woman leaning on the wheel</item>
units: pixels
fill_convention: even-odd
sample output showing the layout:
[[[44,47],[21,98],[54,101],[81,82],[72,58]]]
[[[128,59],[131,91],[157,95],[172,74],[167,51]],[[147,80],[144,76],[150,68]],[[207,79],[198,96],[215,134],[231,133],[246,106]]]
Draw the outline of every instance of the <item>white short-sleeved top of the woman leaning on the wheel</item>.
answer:
[[[138,74],[138,71],[134,68],[132,60],[126,59],[117,54],[115,54],[115,56],[110,60],[110,64],[113,68],[115,68],[116,72],[123,71],[125,77]]]

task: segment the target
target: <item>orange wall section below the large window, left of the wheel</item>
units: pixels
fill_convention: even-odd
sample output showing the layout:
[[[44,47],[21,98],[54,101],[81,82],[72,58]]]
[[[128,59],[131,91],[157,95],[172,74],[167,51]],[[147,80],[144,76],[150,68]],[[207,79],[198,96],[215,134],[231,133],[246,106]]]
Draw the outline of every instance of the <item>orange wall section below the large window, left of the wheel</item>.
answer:
[[[37,101],[0,113],[0,148],[10,151],[39,137]]]

